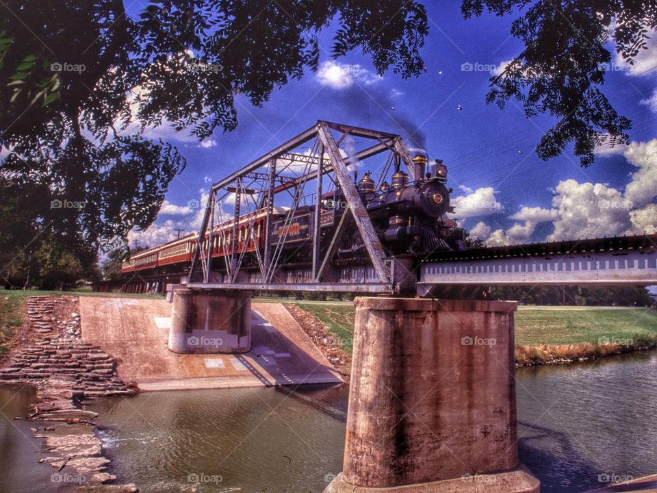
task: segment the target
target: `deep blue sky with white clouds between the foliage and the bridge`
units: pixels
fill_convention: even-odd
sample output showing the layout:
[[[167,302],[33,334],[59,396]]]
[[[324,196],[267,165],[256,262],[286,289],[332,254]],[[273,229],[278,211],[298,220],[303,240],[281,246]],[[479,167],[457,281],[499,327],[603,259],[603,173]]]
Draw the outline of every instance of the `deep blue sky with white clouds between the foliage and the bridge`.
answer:
[[[459,223],[487,244],[657,231],[657,36],[634,67],[615,60],[606,77],[608,98],[634,123],[633,143],[600,149],[595,164],[581,168],[571,148],[548,162],[535,155],[552,118],[527,119],[514,103],[504,110],[485,103],[491,71],[521,50],[509,35],[513,17],[465,21],[459,2],[427,4],[430,31],[420,77],[404,80],[391,71],[378,77],[361,53],[331,60],[327,32],[317,73],[307,70],[275,90],[263,108],[237,98],[235,131],[199,143],[167,126],[149,129],[147,135],[177,144],[188,167],[172,181],[155,224],[132,232],[131,244],[154,246],[173,238],[175,228],[197,228],[194,205],[211,181],[317,120],[415,132],[417,147],[450,169]]]

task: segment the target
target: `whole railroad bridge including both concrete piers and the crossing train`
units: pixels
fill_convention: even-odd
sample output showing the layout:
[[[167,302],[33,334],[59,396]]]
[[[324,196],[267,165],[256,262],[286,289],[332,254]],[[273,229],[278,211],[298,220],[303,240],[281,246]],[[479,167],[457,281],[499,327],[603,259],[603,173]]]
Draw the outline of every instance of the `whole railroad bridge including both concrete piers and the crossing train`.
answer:
[[[326,493],[538,492],[517,460],[516,303],[482,287],[657,283],[657,235],[465,249],[446,182],[396,134],[318,121],[214,184],[198,233],[126,266],[182,279],[179,353],[248,351],[253,291],[388,295],[356,301],[344,472]],[[190,346],[199,331],[224,346]]]

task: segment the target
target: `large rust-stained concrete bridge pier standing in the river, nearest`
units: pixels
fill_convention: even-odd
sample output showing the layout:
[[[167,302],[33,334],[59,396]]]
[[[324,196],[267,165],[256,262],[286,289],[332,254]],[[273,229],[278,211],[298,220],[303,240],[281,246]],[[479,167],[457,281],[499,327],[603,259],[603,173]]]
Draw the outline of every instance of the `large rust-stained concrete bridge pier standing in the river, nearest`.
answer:
[[[324,493],[537,493],[518,463],[515,302],[359,298],[344,471]]]

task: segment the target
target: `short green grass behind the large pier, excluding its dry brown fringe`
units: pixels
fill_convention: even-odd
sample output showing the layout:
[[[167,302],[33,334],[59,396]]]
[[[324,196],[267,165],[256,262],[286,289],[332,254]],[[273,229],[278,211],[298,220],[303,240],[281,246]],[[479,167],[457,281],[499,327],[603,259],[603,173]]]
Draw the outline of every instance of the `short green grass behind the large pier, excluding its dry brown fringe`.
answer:
[[[355,308],[350,302],[293,302],[316,316],[338,338],[351,340]],[[657,338],[657,311],[623,307],[520,307],[515,314],[515,344],[598,343]],[[343,348],[351,353],[351,346]]]

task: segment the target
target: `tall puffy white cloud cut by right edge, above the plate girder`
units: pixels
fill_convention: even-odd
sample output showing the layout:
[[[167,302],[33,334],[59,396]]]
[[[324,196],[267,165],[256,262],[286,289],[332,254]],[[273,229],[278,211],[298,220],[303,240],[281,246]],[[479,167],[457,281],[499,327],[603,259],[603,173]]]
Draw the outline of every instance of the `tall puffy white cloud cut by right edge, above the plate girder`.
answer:
[[[624,153],[628,162],[639,168],[625,188],[625,197],[634,206],[644,205],[657,195],[657,138],[632,142]]]

